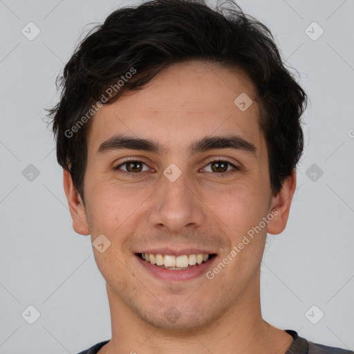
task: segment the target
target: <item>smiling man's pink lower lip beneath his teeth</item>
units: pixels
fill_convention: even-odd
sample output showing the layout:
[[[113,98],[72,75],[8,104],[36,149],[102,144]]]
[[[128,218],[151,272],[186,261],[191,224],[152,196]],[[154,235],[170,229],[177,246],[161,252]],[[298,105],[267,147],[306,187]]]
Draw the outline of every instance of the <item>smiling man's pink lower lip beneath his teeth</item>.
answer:
[[[200,277],[205,274],[208,268],[211,268],[214,263],[216,256],[209,259],[209,261],[203,262],[201,264],[191,265],[190,268],[185,270],[169,270],[158,265],[151,264],[150,262],[141,259],[139,256],[136,256],[140,264],[148,271],[153,274],[154,277],[165,281],[180,281],[180,280],[189,280]]]

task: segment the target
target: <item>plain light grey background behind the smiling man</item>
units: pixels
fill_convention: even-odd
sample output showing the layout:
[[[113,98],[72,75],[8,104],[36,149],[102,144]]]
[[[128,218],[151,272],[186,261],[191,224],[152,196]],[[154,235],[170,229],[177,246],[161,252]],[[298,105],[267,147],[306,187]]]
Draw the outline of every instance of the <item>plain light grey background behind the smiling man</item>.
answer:
[[[90,236],[72,229],[44,107],[58,100],[55,78],[84,25],[129,3],[0,1],[1,354],[77,353],[111,336],[104,279]],[[263,317],[353,350],[354,1],[239,5],[270,27],[310,97],[288,226],[268,236],[261,268]],[[30,21],[41,31],[32,41],[21,32]]]

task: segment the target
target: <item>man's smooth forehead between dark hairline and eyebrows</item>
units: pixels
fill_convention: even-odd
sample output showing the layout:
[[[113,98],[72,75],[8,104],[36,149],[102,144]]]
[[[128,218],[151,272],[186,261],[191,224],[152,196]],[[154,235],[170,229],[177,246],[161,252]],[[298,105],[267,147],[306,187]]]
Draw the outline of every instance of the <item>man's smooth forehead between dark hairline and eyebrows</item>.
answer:
[[[174,64],[140,91],[125,92],[95,113],[88,151],[97,151],[117,133],[156,140],[166,151],[176,147],[182,151],[198,138],[230,133],[259,145],[262,137],[254,92],[241,71],[212,62]],[[252,104],[241,110],[240,100]]]

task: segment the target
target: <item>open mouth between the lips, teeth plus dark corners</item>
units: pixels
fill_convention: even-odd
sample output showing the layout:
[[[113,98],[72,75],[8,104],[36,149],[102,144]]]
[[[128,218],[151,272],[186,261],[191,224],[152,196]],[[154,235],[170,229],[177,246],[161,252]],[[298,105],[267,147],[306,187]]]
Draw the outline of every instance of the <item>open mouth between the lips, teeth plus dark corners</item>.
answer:
[[[182,254],[175,256],[173,254],[155,254],[155,253],[137,253],[144,263],[154,265],[161,270],[183,271],[192,268],[204,267],[204,263],[209,263],[216,257],[216,254]]]

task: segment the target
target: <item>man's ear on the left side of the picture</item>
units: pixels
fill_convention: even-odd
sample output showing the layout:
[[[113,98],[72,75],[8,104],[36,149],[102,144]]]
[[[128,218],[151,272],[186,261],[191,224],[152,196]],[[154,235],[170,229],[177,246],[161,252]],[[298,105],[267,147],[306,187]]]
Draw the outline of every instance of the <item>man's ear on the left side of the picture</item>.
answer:
[[[73,229],[77,234],[88,235],[90,230],[88,228],[88,222],[86,217],[86,210],[82,198],[77,192],[75,185],[73,184],[73,178],[71,173],[64,169],[64,190],[66,198],[68,199],[68,205],[70,209],[71,218],[73,219]]]

